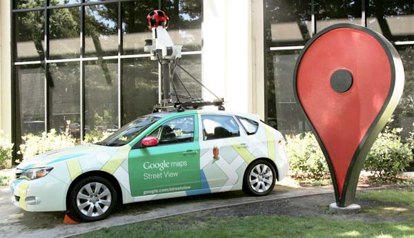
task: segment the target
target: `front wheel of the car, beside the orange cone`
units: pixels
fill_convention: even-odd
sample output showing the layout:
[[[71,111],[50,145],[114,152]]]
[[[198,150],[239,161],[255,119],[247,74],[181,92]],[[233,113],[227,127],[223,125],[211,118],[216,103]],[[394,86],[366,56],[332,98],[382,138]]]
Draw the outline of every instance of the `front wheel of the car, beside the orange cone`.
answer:
[[[99,221],[116,206],[117,191],[108,179],[92,176],[78,181],[69,199],[69,211],[79,221]]]

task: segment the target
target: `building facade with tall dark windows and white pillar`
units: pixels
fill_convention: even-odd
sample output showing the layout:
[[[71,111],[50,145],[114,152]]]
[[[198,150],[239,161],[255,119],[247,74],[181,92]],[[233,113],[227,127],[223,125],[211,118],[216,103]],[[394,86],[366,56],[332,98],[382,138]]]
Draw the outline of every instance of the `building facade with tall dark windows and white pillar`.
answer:
[[[181,66],[227,110],[257,113],[284,134],[310,130],[293,96],[293,68],[313,34],[355,23],[383,34],[402,56],[403,99],[392,126],[414,121],[414,3],[374,0],[13,0],[0,3],[0,126],[69,130],[83,140],[148,114],[161,98],[146,15],[163,9],[183,46]],[[213,99],[178,71],[193,97]],[[177,83],[177,91],[186,94]]]

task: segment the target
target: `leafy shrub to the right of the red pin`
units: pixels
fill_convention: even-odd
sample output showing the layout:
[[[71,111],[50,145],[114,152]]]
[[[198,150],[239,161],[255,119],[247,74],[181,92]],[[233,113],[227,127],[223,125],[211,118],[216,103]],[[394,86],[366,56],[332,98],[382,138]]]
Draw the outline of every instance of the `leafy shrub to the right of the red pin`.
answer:
[[[401,128],[390,130],[387,126],[384,132],[378,135],[364,164],[365,170],[375,174],[372,179],[395,179],[413,161],[410,143],[401,142],[401,131]]]

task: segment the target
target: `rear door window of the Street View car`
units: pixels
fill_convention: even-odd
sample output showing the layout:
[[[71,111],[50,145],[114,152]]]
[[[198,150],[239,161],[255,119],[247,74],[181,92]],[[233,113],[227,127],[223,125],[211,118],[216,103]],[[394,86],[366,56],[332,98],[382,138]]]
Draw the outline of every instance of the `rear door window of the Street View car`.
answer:
[[[205,141],[240,136],[239,126],[233,117],[201,115],[201,121],[203,123],[203,138]]]

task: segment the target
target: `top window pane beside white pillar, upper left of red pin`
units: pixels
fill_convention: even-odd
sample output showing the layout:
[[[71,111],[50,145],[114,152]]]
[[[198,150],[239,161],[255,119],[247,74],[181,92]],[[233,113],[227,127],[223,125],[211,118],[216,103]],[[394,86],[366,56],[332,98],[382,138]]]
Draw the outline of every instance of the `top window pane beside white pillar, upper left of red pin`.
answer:
[[[311,1],[266,0],[268,46],[300,46],[311,39]]]

